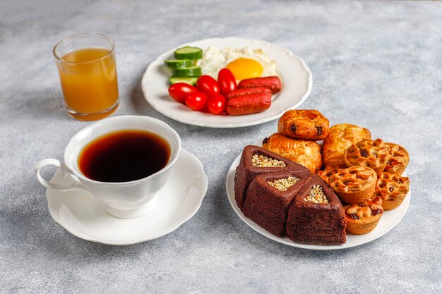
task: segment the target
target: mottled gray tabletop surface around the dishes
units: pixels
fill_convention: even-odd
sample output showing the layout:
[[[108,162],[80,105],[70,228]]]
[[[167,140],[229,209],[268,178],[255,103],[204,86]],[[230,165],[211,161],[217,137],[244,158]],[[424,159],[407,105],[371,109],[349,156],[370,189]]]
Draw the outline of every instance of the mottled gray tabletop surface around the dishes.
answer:
[[[52,220],[32,164],[62,159],[88,123],[64,111],[52,47],[78,32],[117,43],[116,114],[160,118],[203,162],[198,213],[138,245],[81,240]],[[263,39],[313,73],[302,105],[354,123],[411,155],[412,201],[374,242],[301,250],[253,231],[234,213],[225,176],[244,145],[276,121],[239,129],[184,125],[145,102],[140,81],[159,54],[208,37]],[[0,292],[441,293],[442,3],[439,1],[0,0]]]

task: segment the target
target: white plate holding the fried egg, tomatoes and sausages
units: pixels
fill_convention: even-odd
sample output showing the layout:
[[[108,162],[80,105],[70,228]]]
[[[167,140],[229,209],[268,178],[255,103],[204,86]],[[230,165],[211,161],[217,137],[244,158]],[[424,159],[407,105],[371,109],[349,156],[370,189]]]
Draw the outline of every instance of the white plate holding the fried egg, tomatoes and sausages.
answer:
[[[165,59],[173,59],[175,49],[184,46],[196,46],[206,49],[215,46],[263,49],[265,55],[274,59],[277,72],[282,81],[282,91],[273,95],[272,106],[259,114],[245,116],[215,116],[201,111],[192,111],[184,104],[177,103],[169,97],[169,77],[172,72],[164,65]],[[145,99],[161,114],[189,125],[200,125],[210,128],[237,128],[248,125],[257,125],[279,118],[285,111],[295,109],[309,96],[312,85],[312,75],[306,63],[287,49],[277,47],[268,42],[237,37],[203,39],[201,41],[182,44],[167,51],[150,63],[143,75],[141,87]]]

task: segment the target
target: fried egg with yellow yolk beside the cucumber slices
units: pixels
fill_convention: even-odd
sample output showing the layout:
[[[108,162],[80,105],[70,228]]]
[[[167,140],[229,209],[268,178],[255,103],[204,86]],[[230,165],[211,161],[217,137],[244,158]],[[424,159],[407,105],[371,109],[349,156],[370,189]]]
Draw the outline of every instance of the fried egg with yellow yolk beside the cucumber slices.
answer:
[[[203,59],[197,65],[203,75],[210,75],[215,80],[222,68],[229,68],[237,81],[277,75],[276,61],[265,56],[263,50],[249,47],[218,49],[210,46],[204,50]]]

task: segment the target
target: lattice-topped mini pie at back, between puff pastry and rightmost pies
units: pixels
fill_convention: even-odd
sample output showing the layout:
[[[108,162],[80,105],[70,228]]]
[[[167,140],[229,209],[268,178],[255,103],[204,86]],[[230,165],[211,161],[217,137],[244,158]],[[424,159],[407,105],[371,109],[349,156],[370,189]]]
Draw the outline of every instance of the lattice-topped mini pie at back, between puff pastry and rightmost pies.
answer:
[[[387,165],[389,151],[381,139],[362,140],[345,150],[344,161],[347,166],[368,166],[379,174]]]

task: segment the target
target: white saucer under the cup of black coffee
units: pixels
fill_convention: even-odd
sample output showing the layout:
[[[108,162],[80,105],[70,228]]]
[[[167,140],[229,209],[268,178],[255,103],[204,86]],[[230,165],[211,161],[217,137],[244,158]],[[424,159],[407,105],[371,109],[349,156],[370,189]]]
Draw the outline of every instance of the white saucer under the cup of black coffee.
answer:
[[[186,150],[181,149],[173,169],[158,193],[157,205],[145,216],[119,219],[110,215],[100,200],[83,190],[48,189],[49,212],[73,235],[97,243],[129,245],[159,238],[176,230],[198,211],[208,188],[201,162]],[[65,181],[57,171],[51,183]]]

